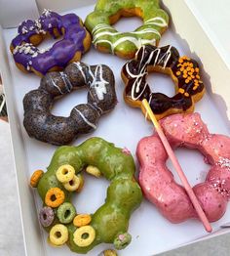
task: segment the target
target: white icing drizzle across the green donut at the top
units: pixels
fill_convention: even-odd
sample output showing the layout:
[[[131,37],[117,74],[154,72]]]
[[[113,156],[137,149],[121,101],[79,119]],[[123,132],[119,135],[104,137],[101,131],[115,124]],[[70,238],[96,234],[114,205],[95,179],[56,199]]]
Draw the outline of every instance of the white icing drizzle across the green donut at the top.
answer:
[[[157,25],[157,26],[160,26],[160,27],[164,27],[164,26],[168,26],[168,23],[167,21],[165,21],[163,18],[161,17],[155,17],[153,19],[150,19],[148,21],[145,21],[144,24],[146,25],[151,25],[151,24],[154,24],[154,25]],[[143,28],[141,30],[138,30],[138,31],[133,31],[133,32],[130,32],[129,35],[127,36],[123,36],[119,39],[117,39],[115,42],[111,42],[110,40],[107,40],[107,39],[103,39],[101,37],[103,36],[116,36],[116,35],[122,35],[124,34],[123,32],[117,32],[117,31],[111,31],[112,30],[115,30],[112,26],[110,26],[109,24],[106,24],[106,23],[99,23],[96,25],[96,27],[92,30],[92,34],[93,34],[93,37],[94,37],[94,40],[93,40],[93,43],[95,45],[97,44],[100,44],[100,43],[107,43],[110,45],[110,50],[111,52],[114,54],[114,50],[115,48],[125,42],[125,41],[130,41],[134,44],[134,46],[139,49],[142,45],[145,45],[145,44],[153,44],[155,45],[156,44],[156,38],[153,38],[153,39],[141,39],[141,38],[136,38],[135,35],[138,35],[138,34],[146,34],[146,33],[153,33],[153,34],[156,34],[158,35],[159,37],[161,37],[161,34],[160,32],[155,29],[155,28],[151,28],[151,27],[146,27],[146,28]],[[103,31],[101,31],[103,30]]]

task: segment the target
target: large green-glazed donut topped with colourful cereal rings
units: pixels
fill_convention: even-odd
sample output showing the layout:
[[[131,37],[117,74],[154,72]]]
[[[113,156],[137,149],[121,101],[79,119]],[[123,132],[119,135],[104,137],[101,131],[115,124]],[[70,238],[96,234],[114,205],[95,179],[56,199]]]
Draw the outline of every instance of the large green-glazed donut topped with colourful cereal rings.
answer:
[[[63,224],[59,226],[57,212],[59,213],[62,209],[58,210],[61,206],[57,204],[53,206],[55,220],[46,230],[50,232],[53,228],[53,231],[59,231],[59,235],[65,235],[59,237],[53,232],[52,240],[58,240],[59,244],[66,241],[69,248],[77,253],[87,253],[101,242],[114,243],[115,248],[122,249],[131,242],[131,235],[128,234],[129,220],[142,199],[142,192],[134,179],[134,158],[127,149],[116,148],[100,138],[89,139],[78,147],[60,147],[56,150],[47,172],[38,180],[37,191],[45,206],[47,206],[47,194],[54,189],[58,199],[64,194],[60,205],[71,202],[72,192],[66,191],[63,184],[58,181],[57,170],[61,166],[72,166],[77,175],[88,165],[96,166],[101,175],[111,182],[107,189],[105,203],[92,214],[92,221],[87,226],[75,227],[74,222],[65,224],[68,230],[67,236],[63,230]],[[85,235],[88,236],[85,243],[92,242],[87,246],[78,246],[75,239],[79,234],[84,234],[82,232],[84,227],[89,231],[89,234]],[[79,234],[77,234],[78,231]],[[84,240],[84,237],[81,238]]]

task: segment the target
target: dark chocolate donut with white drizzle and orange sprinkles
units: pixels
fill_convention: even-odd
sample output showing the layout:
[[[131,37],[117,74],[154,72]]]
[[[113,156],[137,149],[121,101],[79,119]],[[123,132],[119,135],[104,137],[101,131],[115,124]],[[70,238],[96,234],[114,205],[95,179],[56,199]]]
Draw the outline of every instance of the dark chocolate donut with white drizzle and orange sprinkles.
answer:
[[[148,72],[161,72],[171,76],[175,95],[171,98],[163,93],[151,92],[146,82]],[[205,93],[199,65],[186,56],[179,57],[177,50],[169,45],[164,47],[143,46],[134,60],[122,68],[125,83],[124,100],[131,107],[146,110],[141,101],[146,99],[157,119],[173,113],[192,112],[194,104]]]

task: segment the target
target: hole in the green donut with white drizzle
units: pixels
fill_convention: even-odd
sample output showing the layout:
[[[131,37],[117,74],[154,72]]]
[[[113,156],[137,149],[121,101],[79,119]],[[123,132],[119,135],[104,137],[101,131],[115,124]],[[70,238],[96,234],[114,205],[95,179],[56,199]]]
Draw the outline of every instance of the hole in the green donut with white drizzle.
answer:
[[[126,25],[124,25],[126,24]],[[133,15],[133,17],[121,17],[118,21],[113,22],[113,27],[119,32],[134,31],[143,24],[140,17]]]

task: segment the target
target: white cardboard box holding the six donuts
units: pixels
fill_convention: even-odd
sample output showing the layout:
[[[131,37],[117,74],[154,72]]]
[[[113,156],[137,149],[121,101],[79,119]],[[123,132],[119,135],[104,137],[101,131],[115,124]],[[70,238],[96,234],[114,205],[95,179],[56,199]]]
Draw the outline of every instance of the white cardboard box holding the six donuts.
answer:
[[[69,4],[58,1],[56,6],[52,2],[46,2],[37,1],[40,11],[47,8],[58,11],[60,14],[76,13],[84,21],[86,16],[94,10],[96,1],[87,1],[87,3],[86,1],[78,1],[78,3],[69,1]],[[195,16],[190,2],[178,0],[175,6],[173,1],[163,0],[165,9],[171,15],[171,23],[161,39],[160,46],[171,42],[181,55],[191,56],[203,67],[202,76],[207,86],[207,93],[203,100],[196,104],[195,111],[202,114],[203,120],[208,124],[212,133],[229,136],[230,89],[225,81],[230,79],[230,70],[212,45],[201,20]],[[30,11],[31,17],[38,14],[35,4]],[[128,31],[134,30],[140,24],[140,20],[130,18],[118,21],[115,26],[119,30]],[[17,25],[18,23],[15,23],[15,27]],[[28,180],[35,169],[46,169],[57,147],[30,139],[23,128],[22,99],[27,92],[38,87],[40,78],[33,74],[24,74],[16,67],[9,51],[10,42],[15,34],[16,28],[1,28],[0,30],[0,69],[8,101],[26,252],[27,255],[34,256],[77,255],[70,252],[67,246],[58,249],[50,246],[46,241],[47,234],[39,227],[37,221],[37,211],[41,207],[41,200],[38,194],[28,187]],[[40,47],[48,46],[47,41],[40,45]],[[78,145],[92,136],[98,136],[115,143],[117,147],[130,149],[134,155],[137,142],[151,135],[153,128],[150,122],[144,120],[138,109],[128,107],[123,101],[124,84],[120,70],[126,61],[115,56],[101,54],[94,49],[94,46],[82,61],[89,64],[107,64],[114,71],[119,103],[109,115],[99,120],[99,129],[92,134],[78,138],[72,145]],[[152,73],[148,77],[148,82],[153,91],[164,91],[169,96],[173,95],[173,82],[169,77]],[[52,112],[67,116],[69,110],[76,104],[86,103],[86,94],[87,90],[83,89],[58,100]],[[203,161],[203,156],[196,150],[176,149],[175,152],[190,184],[194,186],[202,182],[209,170],[209,165]],[[136,161],[135,156],[134,159]],[[168,166],[172,169],[170,162]],[[178,182],[175,172],[173,175]],[[103,203],[108,185],[105,179],[96,180],[86,175],[84,191],[73,200],[77,211],[94,212]],[[207,235],[201,223],[196,220],[171,224],[144,199],[140,207],[134,211],[130,221],[132,243],[126,249],[119,251],[119,255],[154,255],[215,235],[223,235],[229,233],[230,230],[221,229],[220,226],[228,222],[230,222],[230,206],[219,221],[211,224],[213,233]],[[109,244],[100,244],[88,255],[98,255],[106,248],[110,248]]]

